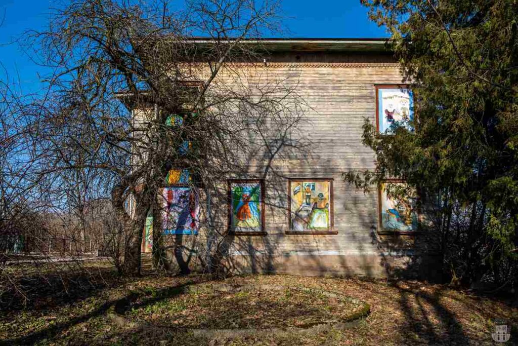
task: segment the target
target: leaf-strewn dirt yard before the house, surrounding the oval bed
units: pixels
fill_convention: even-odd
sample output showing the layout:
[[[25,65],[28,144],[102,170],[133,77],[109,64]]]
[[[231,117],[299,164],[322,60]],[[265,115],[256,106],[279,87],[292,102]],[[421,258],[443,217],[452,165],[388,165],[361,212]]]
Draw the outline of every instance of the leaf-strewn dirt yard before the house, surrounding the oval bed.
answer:
[[[65,290],[56,289],[52,281],[45,283],[34,279],[33,284],[41,285],[41,288],[35,289],[27,297],[29,300],[25,305],[13,299],[9,302],[4,295],[0,313],[0,344],[490,345],[495,344],[491,334],[495,333],[496,324],[508,326],[511,339],[507,344],[518,344],[518,308],[502,300],[443,285],[288,275],[238,276],[218,281],[204,275],[175,277],[149,274],[124,280],[110,276],[108,272],[103,275],[103,279],[97,276],[95,289],[87,288],[92,286],[84,282],[80,285],[82,288],[75,288],[74,285],[80,283],[79,279],[75,284],[71,281]],[[233,319],[236,316],[238,319],[249,319],[250,314],[254,314],[256,319],[268,318],[267,314],[270,314],[271,321],[282,322],[287,308],[279,306],[276,309],[275,304],[269,307],[266,317],[256,316],[258,311],[265,309],[251,307],[257,299],[264,301],[264,296],[257,298],[240,294],[237,298],[231,297],[237,299],[239,304],[231,304],[221,296],[211,297],[210,304],[218,311],[219,320],[214,319],[213,314],[211,319],[204,320],[200,316],[205,313],[204,310],[193,309],[188,302],[174,299],[178,287],[211,283],[282,285],[326,290],[367,302],[370,314],[346,329],[285,329],[275,333],[264,329],[239,334],[232,331],[199,333],[199,329],[182,326],[194,325],[194,322],[182,323],[181,319],[188,322],[201,319],[203,323],[200,325],[210,331],[211,328],[225,326],[228,320],[228,328],[231,329],[243,324],[241,320],[232,322],[229,316],[233,316]],[[271,294],[283,294],[283,297],[272,297],[272,301],[278,301],[279,305],[281,302],[285,304],[285,300],[292,297],[286,291]],[[309,308],[313,312],[320,308],[327,312],[334,311],[333,307],[327,308],[327,305],[332,304],[326,300],[319,303],[311,295],[293,297],[297,299],[293,306],[297,307],[301,316],[305,315],[304,309],[301,309],[305,300],[308,311]],[[250,301],[247,302],[247,299]],[[249,308],[250,312],[247,310]],[[320,315],[325,316],[324,310]],[[319,318],[319,313],[308,313],[306,317]],[[271,327],[272,324],[275,323],[261,325]],[[244,325],[250,327],[250,323]]]

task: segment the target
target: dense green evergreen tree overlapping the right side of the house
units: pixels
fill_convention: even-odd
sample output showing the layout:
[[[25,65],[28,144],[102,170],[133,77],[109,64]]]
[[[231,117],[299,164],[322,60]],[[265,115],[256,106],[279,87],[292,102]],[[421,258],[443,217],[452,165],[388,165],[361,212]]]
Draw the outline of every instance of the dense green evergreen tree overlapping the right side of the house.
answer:
[[[373,172],[346,180],[369,188],[400,178],[421,190],[429,244],[445,279],[518,283],[518,3],[363,0],[391,32],[390,47],[414,92],[414,131],[379,135]],[[405,195],[407,191],[396,191]]]

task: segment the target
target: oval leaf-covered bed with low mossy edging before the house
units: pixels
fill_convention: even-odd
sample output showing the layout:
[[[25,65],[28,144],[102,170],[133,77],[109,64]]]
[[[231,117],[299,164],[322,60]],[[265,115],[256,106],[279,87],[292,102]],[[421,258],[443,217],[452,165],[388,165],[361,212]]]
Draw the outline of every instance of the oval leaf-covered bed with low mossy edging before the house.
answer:
[[[192,329],[306,329],[345,326],[369,313],[367,303],[319,289],[278,285],[199,284],[134,302],[129,317]]]

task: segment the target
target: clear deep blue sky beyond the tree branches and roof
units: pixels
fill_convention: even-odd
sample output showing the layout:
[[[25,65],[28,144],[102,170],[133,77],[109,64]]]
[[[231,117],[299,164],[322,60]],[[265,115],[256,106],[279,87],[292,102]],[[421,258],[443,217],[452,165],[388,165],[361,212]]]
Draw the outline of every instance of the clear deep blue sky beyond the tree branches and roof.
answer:
[[[0,0],[0,79],[9,76],[21,92],[39,89],[41,67],[20,49],[16,39],[26,30],[44,29],[51,9],[62,1]],[[387,37],[369,21],[359,0],[284,0],[282,10],[292,37]]]

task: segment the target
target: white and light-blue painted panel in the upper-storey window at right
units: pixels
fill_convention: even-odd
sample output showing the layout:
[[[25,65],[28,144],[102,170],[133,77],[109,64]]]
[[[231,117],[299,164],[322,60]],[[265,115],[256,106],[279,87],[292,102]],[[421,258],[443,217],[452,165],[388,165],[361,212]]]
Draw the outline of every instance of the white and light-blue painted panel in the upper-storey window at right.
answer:
[[[412,131],[409,121],[413,120],[413,94],[406,88],[377,88],[378,129],[390,133],[398,126]]]

